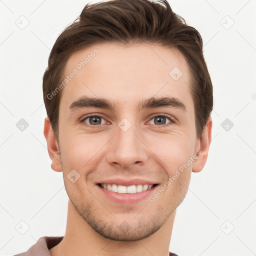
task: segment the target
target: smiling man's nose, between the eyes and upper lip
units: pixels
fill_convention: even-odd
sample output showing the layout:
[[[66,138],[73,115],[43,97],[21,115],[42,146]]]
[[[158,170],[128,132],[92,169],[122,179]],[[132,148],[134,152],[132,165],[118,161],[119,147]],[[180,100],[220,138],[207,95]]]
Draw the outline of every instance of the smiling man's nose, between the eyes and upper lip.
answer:
[[[108,163],[114,167],[140,166],[144,165],[148,159],[149,149],[133,126],[126,131],[117,127],[116,135],[109,142],[106,158]]]

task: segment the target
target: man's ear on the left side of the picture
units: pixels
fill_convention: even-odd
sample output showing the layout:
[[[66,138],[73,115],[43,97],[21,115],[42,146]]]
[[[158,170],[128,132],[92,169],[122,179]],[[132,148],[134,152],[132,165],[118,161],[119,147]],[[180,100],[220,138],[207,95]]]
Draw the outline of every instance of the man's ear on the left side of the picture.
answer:
[[[51,159],[51,168],[55,171],[62,171],[61,161],[60,161],[60,151],[57,143],[57,139],[52,130],[49,117],[44,119],[44,137],[47,141],[48,154]]]

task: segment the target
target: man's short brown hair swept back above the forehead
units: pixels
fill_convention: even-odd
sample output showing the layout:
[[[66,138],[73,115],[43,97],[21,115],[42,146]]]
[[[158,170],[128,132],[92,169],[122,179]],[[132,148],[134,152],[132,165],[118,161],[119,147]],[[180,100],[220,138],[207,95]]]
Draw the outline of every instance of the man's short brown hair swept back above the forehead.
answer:
[[[87,3],[81,14],[58,36],[43,75],[43,100],[52,129],[58,137],[61,90],[49,97],[63,80],[68,58],[78,50],[96,43],[149,42],[178,49],[188,63],[190,92],[193,97],[196,136],[213,105],[212,84],[207,70],[199,32],[174,13],[166,0],[110,0]]]

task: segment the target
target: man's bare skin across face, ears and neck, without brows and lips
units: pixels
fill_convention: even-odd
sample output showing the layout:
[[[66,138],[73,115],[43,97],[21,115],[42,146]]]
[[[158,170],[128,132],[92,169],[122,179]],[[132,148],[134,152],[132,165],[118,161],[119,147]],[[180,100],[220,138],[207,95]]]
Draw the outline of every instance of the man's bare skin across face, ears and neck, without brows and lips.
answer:
[[[50,253],[168,256],[176,208],[187,192],[191,172],[201,171],[207,159],[212,120],[207,119],[198,139],[190,72],[178,50],[148,43],[96,44],[74,53],[65,74],[95,48],[99,50],[95,57],[62,88],[58,141],[48,117],[44,122],[51,168],[63,172],[69,196],[66,232]],[[169,75],[175,66],[183,73],[176,81]],[[105,98],[117,108],[71,111],[69,105],[84,95]],[[162,96],[178,98],[186,111],[166,106],[138,110],[141,99]],[[90,113],[103,117],[96,128],[89,118],[80,121]],[[166,124],[157,123],[154,115],[163,113],[175,122],[166,125],[170,119],[163,117]],[[123,118],[131,124],[127,131],[118,126]],[[117,204],[103,197],[95,185],[100,179],[120,176],[145,178],[162,186],[198,150],[200,155],[154,202],[146,198]],[[72,169],[80,175],[74,183],[67,178]]]

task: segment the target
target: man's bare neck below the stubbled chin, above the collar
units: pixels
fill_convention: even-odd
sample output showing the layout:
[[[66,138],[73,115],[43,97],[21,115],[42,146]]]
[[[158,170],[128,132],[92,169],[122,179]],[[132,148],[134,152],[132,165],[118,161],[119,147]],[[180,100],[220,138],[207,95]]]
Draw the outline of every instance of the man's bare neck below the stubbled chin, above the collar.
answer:
[[[176,210],[153,234],[137,241],[115,241],[98,234],[68,200],[66,232],[53,248],[51,256],[168,256]]]

